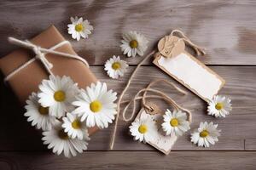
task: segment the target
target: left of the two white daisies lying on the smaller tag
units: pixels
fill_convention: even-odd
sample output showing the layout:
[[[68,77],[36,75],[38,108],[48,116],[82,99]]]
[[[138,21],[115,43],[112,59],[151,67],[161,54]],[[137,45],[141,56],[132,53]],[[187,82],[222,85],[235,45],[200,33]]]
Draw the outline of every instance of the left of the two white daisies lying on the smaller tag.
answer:
[[[154,133],[157,129],[155,122],[149,116],[140,117],[131,123],[130,132],[135,140],[147,143],[154,140]]]

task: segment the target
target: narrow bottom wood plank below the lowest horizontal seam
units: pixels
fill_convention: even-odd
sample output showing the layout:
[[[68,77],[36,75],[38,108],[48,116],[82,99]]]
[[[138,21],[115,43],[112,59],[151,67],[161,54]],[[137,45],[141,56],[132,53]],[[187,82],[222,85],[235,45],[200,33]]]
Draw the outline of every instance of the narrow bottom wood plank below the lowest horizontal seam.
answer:
[[[173,151],[160,156],[154,151],[88,151],[67,159],[46,152],[1,152],[1,169],[255,169],[256,152]]]

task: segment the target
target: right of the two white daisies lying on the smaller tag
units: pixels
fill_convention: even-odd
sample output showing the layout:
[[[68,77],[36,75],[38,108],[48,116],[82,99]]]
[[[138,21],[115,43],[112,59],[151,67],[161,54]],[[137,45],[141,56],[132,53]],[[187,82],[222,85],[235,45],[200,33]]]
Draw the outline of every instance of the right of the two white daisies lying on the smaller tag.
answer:
[[[190,129],[187,115],[182,111],[169,111],[167,109],[163,117],[162,129],[166,132],[166,135],[181,136]]]

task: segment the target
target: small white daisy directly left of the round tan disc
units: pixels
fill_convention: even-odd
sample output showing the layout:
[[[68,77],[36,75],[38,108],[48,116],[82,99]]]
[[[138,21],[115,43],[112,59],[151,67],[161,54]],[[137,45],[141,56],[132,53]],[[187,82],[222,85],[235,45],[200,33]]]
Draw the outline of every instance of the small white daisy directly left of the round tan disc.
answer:
[[[148,48],[148,40],[142,34],[137,33],[137,31],[129,31],[123,34],[123,40],[120,45],[124,54],[128,57],[135,57],[136,54],[143,56],[143,53]]]

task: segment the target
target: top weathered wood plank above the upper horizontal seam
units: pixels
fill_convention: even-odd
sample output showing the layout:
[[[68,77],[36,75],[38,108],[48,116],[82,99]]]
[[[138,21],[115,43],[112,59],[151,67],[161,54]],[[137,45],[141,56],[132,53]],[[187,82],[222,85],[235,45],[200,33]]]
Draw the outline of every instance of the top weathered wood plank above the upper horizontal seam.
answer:
[[[90,65],[102,65],[119,48],[124,31],[141,31],[148,37],[148,52],[160,37],[172,29],[182,29],[191,40],[206,47],[211,65],[256,65],[255,1],[1,1],[0,52],[13,48],[9,36],[29,38],[51,24],[71,40],[73,47],[86,56]],[[70,16],[83,16],[95,30],[87,40],[76,42],[67,35]],[[128,59],[130,64],[138,60]],[[151,64],[151,63],[150,63]]]

